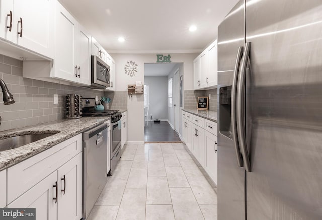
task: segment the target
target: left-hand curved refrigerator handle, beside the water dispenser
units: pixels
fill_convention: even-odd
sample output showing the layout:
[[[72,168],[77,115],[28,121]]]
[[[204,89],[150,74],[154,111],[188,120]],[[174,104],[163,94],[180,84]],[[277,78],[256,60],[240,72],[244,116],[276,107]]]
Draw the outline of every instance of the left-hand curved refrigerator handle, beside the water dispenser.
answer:
[[[244,47],[239,47],[237,52],[235,69],[233,71],[233,81],[231,87],[231,130],[233,143],[235,146],[237,163],[239,167],[243,167],[243,158],[241,157],[239,142],[238,142],[238,134],[237,134],[237,124],[236,124],[236,92],[237,92],[237,79],[239,73],[239,66],[241,57],[243,56]]]

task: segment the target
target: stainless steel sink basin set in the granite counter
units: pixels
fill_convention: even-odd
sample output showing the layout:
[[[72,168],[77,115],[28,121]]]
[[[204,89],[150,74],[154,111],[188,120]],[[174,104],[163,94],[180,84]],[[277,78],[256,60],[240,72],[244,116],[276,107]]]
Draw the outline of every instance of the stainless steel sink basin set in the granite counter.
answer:
[[[33,131],[35,132],[35,131]],[[40,131],[39,131],[40,132]],[[9,137],[0,140],[0,151],[5,151],[9,149],[19,148],[20,146],[27,145],[29,143],[41,140],[43,138],[49,137],[51,135],[57,134],[60,131],[50,131],[48,133],[32,133],[32,134],[21,134],[14,137]]]

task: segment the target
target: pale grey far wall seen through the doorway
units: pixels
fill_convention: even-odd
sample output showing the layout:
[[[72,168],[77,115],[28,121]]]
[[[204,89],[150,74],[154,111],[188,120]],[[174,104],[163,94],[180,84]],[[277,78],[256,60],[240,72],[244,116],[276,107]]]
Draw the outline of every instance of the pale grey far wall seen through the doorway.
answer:
[[[149,83],[149,113],[147,119],[167,120],[168,81],[167,76],[145,76],[144,83]]]

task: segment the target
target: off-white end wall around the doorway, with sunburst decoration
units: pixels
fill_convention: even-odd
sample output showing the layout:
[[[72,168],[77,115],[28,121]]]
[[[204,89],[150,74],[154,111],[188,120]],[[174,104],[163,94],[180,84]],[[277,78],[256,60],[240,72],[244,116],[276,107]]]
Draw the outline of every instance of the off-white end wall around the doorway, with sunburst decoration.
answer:
[[[156,54],[110,54],[115,60],[115,82],[116,90],[127,90],[128,84],[135,84],[135,81],[144,81],[144,63],[156,63]],[[168,55],[168,54],[164,54]],[[173,63],[183,63],[184,90],[193,90],[193,60],[199,53],[175,53],[170,54]],[[130,77],[125,74],[124,66],[128,61],[138,64],[138,72]],[[144,141],[144,103],[143,95],[128,97],[128,140]]]

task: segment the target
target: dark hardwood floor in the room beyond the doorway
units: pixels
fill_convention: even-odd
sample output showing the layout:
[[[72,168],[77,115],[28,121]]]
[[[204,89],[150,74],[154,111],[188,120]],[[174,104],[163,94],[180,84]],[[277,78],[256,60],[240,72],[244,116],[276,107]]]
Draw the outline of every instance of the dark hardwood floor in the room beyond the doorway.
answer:
[[[144,140],[145,142],[181,142],[179,135],[167,121],[145,122]]]

